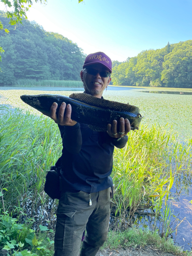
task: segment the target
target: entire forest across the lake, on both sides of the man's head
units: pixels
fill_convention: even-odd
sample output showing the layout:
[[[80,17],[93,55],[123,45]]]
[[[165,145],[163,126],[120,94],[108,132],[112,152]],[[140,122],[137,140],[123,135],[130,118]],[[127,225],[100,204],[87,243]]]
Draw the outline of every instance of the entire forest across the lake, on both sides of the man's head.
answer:
[[[86,55],[68,38],[45,31],[35,22],[11,26],[6,13],[0,20],[10,32],[0,30],[4,52],[0,62],[0,84],[17,81],[80,80]],[[125,56],[126,58],[126,56]],[[192,88],[192,40],[145,50],[126,61],[113,61],[115,86]]]

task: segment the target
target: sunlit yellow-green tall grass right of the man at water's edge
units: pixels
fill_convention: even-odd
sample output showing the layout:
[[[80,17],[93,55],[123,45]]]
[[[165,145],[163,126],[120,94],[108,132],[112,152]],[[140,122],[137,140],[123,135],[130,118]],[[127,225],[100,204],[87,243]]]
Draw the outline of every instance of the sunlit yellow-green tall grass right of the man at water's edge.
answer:
[[[127,226],[139,208],[161,217],[161,234],[170,230],[170,189],[180,174],[191,172],[192,140],[179,143],[177,136],[166,133],[166,127],[141,126],[130,133],[127,145],[115,149],[113,181],[115,184],[115,216]],[[150,210],[149,210],[150,209]]]

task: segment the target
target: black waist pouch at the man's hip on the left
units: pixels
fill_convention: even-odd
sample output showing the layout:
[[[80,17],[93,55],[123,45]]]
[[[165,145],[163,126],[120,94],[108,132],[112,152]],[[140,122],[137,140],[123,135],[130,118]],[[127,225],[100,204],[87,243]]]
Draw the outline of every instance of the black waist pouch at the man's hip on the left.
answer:
[[[46,176],[44,191],[52,199],[60,199],[60,167],[51,166]]]

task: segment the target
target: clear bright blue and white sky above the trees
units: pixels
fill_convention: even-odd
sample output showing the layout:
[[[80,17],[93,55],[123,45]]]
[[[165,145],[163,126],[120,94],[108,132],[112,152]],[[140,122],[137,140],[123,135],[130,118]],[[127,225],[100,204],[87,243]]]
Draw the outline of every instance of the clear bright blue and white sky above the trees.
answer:
[[[85,54],[101,51],[118,61],[192,39],[192,0],[48,0],[27,16]]]

